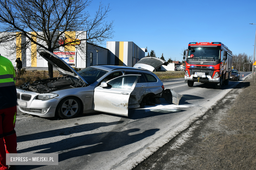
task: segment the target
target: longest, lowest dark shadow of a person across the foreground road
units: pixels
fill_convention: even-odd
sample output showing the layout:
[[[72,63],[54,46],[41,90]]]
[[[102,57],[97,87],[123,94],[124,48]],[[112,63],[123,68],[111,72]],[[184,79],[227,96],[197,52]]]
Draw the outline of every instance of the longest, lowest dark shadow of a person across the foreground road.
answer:
[[[31,147],[32,150],[37,149],[45,149],[36,153],[57,153],[59,151],[62,151],[59,153],[59,162],[65,161],[71,158],[75,157],[82,157],[83,161],[87,161],[88,157],[83,157],[88,154],[93,154],[97,152],[104,152],[104,151],[110,151],[115,150],[117,148],[123,147],[125,145],[129,145],[135,142],[138,142],[144,138],[147,138],[149,136],[154,135],[157,131],[160,129],[149,129],[145,130],[142,133],[137,133],[134,135],[131,135],[129,133],[132,132],[138,132],[139,128],[133,128],[128,129],[124,131],[119,132],[102,132],[102,133],[96,133],[92,137],[93,134],[87,134],[82,136],[76,136],[71,137],[68,139],[63,139],[61,141],[53,142],[50,144],[42,144],[39,146]],[[80,144],[77,144],[75,146],[69,147],[69,144],[74,143],[74,141],[83,141]],[[93,146],[88,146],[93,145]],[[88,147],[86,147],[88,146]],[[21,152],[27,152],[28,149],[20,150]],[[43,167],[42,165],[29,165],[29,166],[18,166],[18,169],[34,169],[38,167]]]

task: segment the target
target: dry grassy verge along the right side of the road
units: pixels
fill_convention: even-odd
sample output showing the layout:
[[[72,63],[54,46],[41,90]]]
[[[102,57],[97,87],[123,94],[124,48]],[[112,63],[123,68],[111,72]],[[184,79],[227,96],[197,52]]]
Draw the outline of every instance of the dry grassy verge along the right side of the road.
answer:
[[[190,169],[256,169],[256,83],[253,81],[246,79],[238,85],[243,92],[221,120],[223,130],[211,132],[203,139],[199,144],[201,151],[191,160]]]

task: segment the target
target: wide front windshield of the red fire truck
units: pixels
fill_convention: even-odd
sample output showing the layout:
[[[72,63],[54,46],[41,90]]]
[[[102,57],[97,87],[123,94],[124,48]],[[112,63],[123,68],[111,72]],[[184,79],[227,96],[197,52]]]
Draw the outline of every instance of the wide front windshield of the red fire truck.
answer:
[[[190,47],[188,59],[220,59],[220,49],[216,47]]]

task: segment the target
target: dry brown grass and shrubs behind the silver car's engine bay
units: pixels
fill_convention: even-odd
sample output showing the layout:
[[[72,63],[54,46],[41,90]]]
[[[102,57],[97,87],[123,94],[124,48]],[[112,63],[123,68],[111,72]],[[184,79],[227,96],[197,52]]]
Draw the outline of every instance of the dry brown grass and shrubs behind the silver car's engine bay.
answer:
[[[16,71],[15,71],[16,72]],[[58,71],[53,71],[53,77],[59,76]],[[16,84],[15,86],[18,87],[22,85],[23,83],[30,82],[32,83],[33,81],[40,80],[40,79],[45,79],[49,78],[48,76],[48,71],[30,71],[30,70],[25,70],[22,69],[21,75],[17,75],[16,73]]]

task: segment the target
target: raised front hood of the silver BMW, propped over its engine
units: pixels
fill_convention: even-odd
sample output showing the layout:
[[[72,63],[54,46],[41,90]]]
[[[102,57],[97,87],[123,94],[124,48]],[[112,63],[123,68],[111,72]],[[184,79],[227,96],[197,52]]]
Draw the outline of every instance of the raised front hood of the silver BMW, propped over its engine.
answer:
[[[45,50],[45,49],[39,49],[37,52],[49,63],[51,63],[62,75],[70,75],[74,76],[81,81],[88,84],[83,77],[81,77],[70,65],[68,65],[65,61],[60,59],[58,56],[53,54],[52,52]]]

